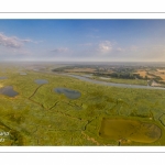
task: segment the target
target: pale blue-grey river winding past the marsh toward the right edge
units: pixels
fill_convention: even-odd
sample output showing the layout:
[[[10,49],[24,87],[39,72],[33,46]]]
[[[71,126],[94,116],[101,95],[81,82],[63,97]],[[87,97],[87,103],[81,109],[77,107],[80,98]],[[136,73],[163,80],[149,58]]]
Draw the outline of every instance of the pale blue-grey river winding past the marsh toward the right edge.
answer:
[[[152,87],[152,86],[141,86],[141,85],[128,85],[128,84],[116,84],[116,82],[107,82],[107,81],[100,81],[100,80],[95,80],[95,79],[90,79],[84,76],[78,76],[78,75],[70,75],[70,74],[61,74],[64,76],[69,76],[69,77],[74,77],[84,81],[89,81],[89,82],[94,82],[94,84],[98,84],[98,85],[105,85],[105,86],[113,86],[113,87],[124,87],[124,88],[141,88],[141,89],[161,89],[161,90],[165,90],[165,88],[163,87]]]

